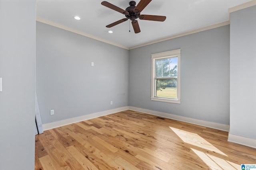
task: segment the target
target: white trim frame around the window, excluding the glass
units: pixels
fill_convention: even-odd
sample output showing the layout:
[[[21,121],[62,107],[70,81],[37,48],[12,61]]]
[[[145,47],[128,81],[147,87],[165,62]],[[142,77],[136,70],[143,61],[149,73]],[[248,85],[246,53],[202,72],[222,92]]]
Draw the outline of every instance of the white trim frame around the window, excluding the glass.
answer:
[[[151,55],[151,100],[158,102],[169,102],[169,103],[177,103],[180,104],[180,49],[166,51],[163,53],[156,53]],[[169,57],[178,57],[178,68],[177,68],[177,99],[169,99],[169,98],[160,98],[155,97],[155,61],[156,59],[164,59]]]

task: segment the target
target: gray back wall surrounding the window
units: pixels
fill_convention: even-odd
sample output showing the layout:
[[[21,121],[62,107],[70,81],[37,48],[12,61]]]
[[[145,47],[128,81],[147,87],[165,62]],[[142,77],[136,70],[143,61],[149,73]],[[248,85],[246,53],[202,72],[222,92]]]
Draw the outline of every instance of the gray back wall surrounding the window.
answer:
[[[130,50],[129,106],[229,125],[229,25]],[[151,95],[151,54],[181,49],[181,104]]]

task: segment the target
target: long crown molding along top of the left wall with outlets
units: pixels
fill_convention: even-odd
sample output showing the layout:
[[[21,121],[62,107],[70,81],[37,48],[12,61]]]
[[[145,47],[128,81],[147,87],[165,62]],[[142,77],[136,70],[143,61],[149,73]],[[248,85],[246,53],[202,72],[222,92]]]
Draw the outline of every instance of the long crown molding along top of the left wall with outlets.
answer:
[[[64,29],[64,30],[66,30],[66,31],[70,31],[70,32],[73,32],[73,33],[77,33],[77,34],[83,35],[83,36],[85,36],[85,37],[89,37],[89,38],[92,38],[92,39],[96,39],[96,40],[98,40],[98,41],[102,41],[102,42],[104,42],[104,43],[108,43],[108,44],[111,44],[111,45],[114,45],[114,46],[117,46],[117,47],[120,47],[120,48],[123,48],[123,49],[127,49],[127,50],[129,49],[128,47],[125,47],[125,46],[123,46],[123,45],[119,45],[119,44],[113,43],[113,42],[111,42],[111,41],[108,41],[108,40],[106,40],[106,39],[101,39],[101,38],[99,38],[99,37],[96,37],[96,36],[93,36],[93,35],[84,33],[84,32],[82,32],[82,31],[78,31],[78,30],[76,30],[76,29],[72,29],[72,28],[70,28],[70,27],[66,27],[66,26],[64,26],[64,25],[60,25],[60,24],[58,24],[58,23],[55,23],[55,22],[52,22],[52,21],[49,21],[49,20],[45,20],[44,18],[36,17],[36,21],[42,22],[42,23],[46,23],[46,24],[48,24],[48,25],[52,25],[52,26],[57,27],[57,28],[60,28],[60,29]]]

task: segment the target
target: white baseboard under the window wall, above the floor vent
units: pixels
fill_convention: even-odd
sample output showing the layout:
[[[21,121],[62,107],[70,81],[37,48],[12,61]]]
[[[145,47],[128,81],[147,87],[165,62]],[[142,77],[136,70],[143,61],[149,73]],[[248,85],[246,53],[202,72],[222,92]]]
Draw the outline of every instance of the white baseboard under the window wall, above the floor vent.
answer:
[[[174,120],[178,120],[178,121],[184,121],[187,123],[192,123],[195,125],[200,125],[200,126],[204,126],[204,127],[210,127],[210,128],[214,128],[214,129],[219,129],[222,131],[229,131],[229,125],[224,125],[224,124],[220,124],[220,123],[214,123],[214,122],[209,122],[209,121],[203,121],[203,120],[198,120],[198,119],[192,119],[189,117],[183,117],[183,116],[179,116],[179,115],[172,115],[169,113],[164,113],[164,112],[160,112],[160,111],[153,111],[153,110],[148,110],[148,109],[142,109],[142,108],[138,108],[138,107],[131,107],[129,106],[130,110],[134,110],[134,111],[140,111],[142,113],[148,113],[151,115],[156,115],[156,116],[160,116],[160,117],[166,117],[169,119],[174,119]]]

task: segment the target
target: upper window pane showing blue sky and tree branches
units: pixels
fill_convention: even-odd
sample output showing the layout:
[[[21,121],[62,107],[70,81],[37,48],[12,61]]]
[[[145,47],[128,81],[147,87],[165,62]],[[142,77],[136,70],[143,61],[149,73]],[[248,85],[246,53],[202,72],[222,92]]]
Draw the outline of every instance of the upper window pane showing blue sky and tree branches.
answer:
[[[156,77],[177,77],[178,57],[156,60]]]

